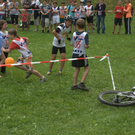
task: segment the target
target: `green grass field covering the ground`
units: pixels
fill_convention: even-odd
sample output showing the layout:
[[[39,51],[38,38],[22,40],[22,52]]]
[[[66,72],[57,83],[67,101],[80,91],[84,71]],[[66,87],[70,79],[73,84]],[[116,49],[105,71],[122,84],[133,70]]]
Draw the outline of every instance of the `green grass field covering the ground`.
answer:
[[[116,90],[130,91],[135,85],[135,44],[134,26],[132,34],[112,35],[114,15],[106,16],[105,35],[89,34],[90,48],[87,55],[103,56],[109,53]],[[11,28],[11,25],[9,25]],[[29,49],[33,61],[50,60],[53,34],[20,31],[20,36],[30,39]],[[72,35],[70,34],[70,37]],[[72,47],[66,41],[66,58],[71,58]],[[20,56],[17,50],[9,54],[15,60]],[[58,54],[57,59],[60,59]],[[89,92],[71,91],[74,68],[66,62],[63,75],[56,76],[60,63],[55,63],[47,82],[40,84],[39,78],[32,75],[24,79],[26,73],[15,67],[7,68],[0,79],[0,135],[133,135],[135,106],[116,108],[104,105],[97,100],[100,92],[112,90],[107,60],[89,60],[90,72],[85,81]],[[49,64],[34,65],[43,75]],[[11,77],[13,72],[13,79]],[[78,78],[80,82],[83,69]]]

